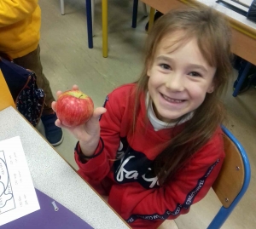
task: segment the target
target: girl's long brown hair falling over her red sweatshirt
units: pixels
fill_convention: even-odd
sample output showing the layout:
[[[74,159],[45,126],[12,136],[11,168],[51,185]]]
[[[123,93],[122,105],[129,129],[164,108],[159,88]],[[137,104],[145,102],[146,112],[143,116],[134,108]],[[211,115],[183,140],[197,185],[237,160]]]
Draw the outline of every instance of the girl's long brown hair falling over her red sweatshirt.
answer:
[[[227,21],[214,9],[196,7],[177,9],[163,15],[156,21],[146,43],[145,65],[137,81],[133,126],[139,111],[139,98],[148,91],[148,66],[154,60],[158,44],[175,31],[184,31],[179,41],[182,45],[189,38],[196,38],[201,54],[210,66],[217,68],[213,78],[214,91],[207,94],[194,116],[185,123],[179,134],[172,136],[166,148],[154,160],[154,173],[160,185],[172,180],[189,158],[212,137],[218,125],[224,120],[224,108],[219,95],[224,91],[231,73],[231,32]],[[180,117],[177,124],[183,119]]]

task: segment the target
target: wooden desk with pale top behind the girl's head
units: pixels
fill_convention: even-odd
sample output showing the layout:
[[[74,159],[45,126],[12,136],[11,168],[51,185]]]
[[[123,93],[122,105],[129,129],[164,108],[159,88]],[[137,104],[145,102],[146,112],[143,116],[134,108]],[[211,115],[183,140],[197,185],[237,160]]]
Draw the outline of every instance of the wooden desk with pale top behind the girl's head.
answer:
[[[232,52],[241,56],[241,58],[251,62],[256,65],[256,23],[247,20],[246,17],[241,14],[237,14],[231,9],[224,8],[224,6],[215,3],[212,0],[200,0],[200,1],[178,1],[178,0],[141,0],[148,6],[159,10],[161,13],[166,14],[166,12],[171,9],[177,9],[183,7],[185,4],[203,4],[217,9],[220,13],[224,14],[230,21],[232,26]]]

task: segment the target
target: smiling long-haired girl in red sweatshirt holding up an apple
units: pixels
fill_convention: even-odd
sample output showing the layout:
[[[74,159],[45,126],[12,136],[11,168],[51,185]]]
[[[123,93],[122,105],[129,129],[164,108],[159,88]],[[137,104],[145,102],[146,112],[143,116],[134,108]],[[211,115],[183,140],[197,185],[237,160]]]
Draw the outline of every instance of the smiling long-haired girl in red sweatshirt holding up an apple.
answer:
[[[188,213],[217,178],[224,162],[218,96],[231,70],[230,40],[212,9],[165,14],[148,35],[137,83],[113,90],[90,121],[69,128],[79,140],[79,174],[132,228]]]

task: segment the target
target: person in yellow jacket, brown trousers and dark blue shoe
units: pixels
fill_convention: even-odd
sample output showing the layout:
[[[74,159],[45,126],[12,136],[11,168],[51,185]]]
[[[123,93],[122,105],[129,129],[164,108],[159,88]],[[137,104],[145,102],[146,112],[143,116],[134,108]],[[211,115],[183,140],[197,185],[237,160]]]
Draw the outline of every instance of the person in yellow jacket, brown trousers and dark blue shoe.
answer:
[[[61,128],[55,126],[57,117],[51,109],[55,99],[40,60],[40,26],[41,9],[38,0],[1,0],[0,53],[8,56],[18,66],[36,73],[38,88],[46,94],[41,117],[45,135],[52,146],[58,146],[63,140],[63,133]]]

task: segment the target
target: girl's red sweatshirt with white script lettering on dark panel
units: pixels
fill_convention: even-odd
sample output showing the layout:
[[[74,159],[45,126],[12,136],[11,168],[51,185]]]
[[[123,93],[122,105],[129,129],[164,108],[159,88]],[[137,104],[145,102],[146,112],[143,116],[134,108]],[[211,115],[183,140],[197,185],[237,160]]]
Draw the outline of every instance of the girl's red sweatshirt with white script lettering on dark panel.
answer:
[[[192,203],[204,198],[218,176],[224,161],[221,129],[189,159],[189,163],[169,183],[160,187],[153,173],[154,158],[171,139],[173,131],[181,131],[186,123],[174,129],[154,131],[145,122],[145,96],[137,117],[135,133],[131,135],[135,84],[126,84],[108,95],[102,115],[101,138],[95,155],[85,162],[75,159],[79,174],[96,191],[108,195],[108,203],[132,228],[153,229],[163,220],[175,219],[189,212]]]

